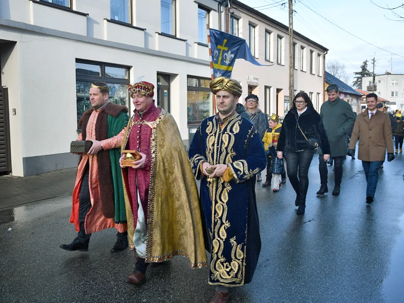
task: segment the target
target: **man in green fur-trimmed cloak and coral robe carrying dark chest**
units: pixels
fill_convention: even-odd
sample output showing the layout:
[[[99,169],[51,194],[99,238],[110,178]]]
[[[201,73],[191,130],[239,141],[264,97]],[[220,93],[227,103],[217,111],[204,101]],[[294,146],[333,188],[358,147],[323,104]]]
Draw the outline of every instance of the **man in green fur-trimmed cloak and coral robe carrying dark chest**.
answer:
[[[129,120],[128,108],[109,102],[109,88],[104,82],[90,86],[91,109],[79,121],[78,140],[93,142],[83,154],[77,169],[70,223],[77,237],[65,250],[88,250],[91,233],[114,227],[117,241],[111,252],[128,246],[125,199],[119,167],[120,146]]]

